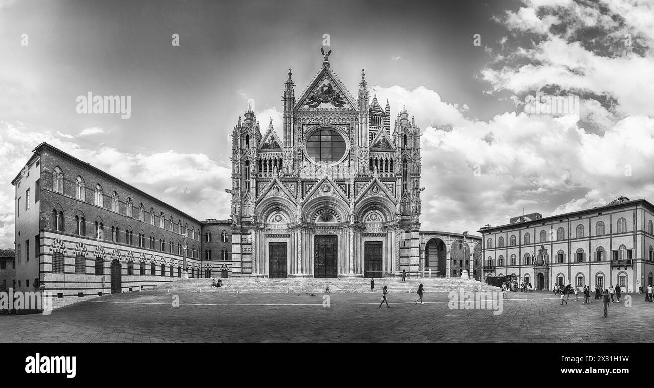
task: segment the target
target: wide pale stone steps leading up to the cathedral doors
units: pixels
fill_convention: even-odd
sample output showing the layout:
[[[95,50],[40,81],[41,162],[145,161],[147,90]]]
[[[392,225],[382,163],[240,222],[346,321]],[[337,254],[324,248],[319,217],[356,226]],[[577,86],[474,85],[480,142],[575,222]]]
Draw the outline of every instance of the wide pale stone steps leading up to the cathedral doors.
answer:
[[[188,278],[169,282],[160,288],[171,292],[224,292],[224,293],[324,293],[326,288],[334,293],[381,292],[384,286],[389,292],[417,291],[422,283],[425,292],[498,291],[499,288],[474,279],[465,278],[400,278],[375,279],[375,290],[370,290],[368,278],[225,278],[222,287],[211,286],[209,278]]]

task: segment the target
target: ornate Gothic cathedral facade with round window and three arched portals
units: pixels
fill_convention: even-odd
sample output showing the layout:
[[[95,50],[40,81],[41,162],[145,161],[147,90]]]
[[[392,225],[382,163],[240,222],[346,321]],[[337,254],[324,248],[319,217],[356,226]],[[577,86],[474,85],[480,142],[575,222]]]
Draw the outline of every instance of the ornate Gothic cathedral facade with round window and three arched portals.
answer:
[[[330,67],[300,98],[292,72],[283,123],[250,108],[233,128],[232,274],[381,277],[419,271],[420,129],[406,108],[353,98]]]

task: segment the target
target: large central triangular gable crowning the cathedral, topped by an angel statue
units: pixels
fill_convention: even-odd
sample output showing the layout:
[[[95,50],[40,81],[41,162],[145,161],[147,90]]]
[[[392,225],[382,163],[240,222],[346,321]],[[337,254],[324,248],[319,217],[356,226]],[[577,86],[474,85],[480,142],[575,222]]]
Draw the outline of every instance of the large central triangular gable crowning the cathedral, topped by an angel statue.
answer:
[[[329,66],[323,66],[304,91],[294,110],[342,108],[358,110],[354,98]]]

